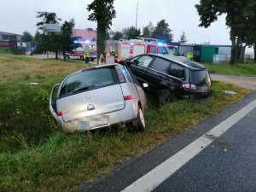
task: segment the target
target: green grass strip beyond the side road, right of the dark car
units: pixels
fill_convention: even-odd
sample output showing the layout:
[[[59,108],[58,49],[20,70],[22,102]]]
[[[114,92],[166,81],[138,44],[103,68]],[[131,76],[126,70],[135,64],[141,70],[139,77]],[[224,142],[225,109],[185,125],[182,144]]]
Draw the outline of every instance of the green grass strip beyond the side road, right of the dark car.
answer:
[[[239,75],[239,76],[256,76],[256,63],[238,63],[230,64],[204,64],[210,73]]]

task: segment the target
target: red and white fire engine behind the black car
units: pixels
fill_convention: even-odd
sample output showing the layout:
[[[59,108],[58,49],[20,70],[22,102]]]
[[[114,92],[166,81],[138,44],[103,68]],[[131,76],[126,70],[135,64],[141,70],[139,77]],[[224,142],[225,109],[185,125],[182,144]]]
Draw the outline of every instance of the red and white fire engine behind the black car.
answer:
[[[119,62],[146,53],[178,55],[178,50],[176,46],[160,43],[154,38],[120,39],[115,57]]]

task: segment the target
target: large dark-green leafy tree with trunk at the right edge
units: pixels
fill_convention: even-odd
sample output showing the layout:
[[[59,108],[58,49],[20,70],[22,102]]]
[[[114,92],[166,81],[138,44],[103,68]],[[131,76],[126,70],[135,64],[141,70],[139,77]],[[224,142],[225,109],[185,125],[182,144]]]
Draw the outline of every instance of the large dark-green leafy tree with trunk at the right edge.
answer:
[[[199,4],[195,5],[195,8],[200,15],[199,26],[204,27],[208,27],[212,22],[218,20],[219,15],[226,14],[226,25],[230,27],[232,42],[230,63],[234,64],[239,61],[243,43],[253,44],[254,41],[255,0],[201,0]]]

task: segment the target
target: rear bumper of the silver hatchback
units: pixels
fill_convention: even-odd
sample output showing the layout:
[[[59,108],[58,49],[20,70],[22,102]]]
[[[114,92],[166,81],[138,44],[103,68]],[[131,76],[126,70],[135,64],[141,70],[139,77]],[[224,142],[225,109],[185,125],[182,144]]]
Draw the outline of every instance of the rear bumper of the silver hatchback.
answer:
[[[84,119],[75,119],[69,122],[64,122],[62,117],[59,117],[58,121],[61,125],[61,128],[65,132],[76,132],[76,131],[89,131],[95,130],[106,126],[122,124],[130,122],[134,119],[137,119],[137,101],[129,100],[125,102],[125,108],[119,111],[113,111],[111,113],[102,113],[97,114],[97,116],[102,115],[104,118],[102,125],[91,125],[92,122],[89,121],[89,117],[84,117]],[[108,119],[108,122],[106,122]]]

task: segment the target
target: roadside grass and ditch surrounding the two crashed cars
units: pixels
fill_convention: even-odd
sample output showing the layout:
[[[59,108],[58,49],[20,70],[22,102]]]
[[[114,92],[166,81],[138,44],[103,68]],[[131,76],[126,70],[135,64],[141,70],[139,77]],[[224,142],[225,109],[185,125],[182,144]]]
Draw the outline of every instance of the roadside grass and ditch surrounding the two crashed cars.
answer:
[[[0,191],[76,191],[79,184],[107,174],[125,158],[146,153],[250,92],[213,82],[211,96],[161,108],[150,96],[147,131],[123,127],[66,135],[49,113],[49,91],[84,64],[0,55],[0,67],[5,72],[0,76]],[[227,96],[223,90],[237,94]]]

